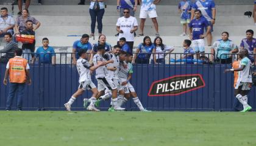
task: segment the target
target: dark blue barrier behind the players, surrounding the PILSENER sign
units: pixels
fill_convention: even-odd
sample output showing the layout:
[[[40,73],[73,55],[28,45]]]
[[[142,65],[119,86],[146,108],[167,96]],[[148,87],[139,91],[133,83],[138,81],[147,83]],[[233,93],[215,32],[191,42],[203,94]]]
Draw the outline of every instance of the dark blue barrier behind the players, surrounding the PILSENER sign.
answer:
[[[6,64],[0,64],[0,109],[5,108],[9,87],[2,84]],[[233,73],[224,74],[230,64],[134,64],[132,80],[143,106],[155,111],[231,111],[235,99]],[[174,75],[199,74],[204,87],[177,96],[148,96],[153,82]],[[23,109],[64,110],[71,95],[79,85],[76,66],[72,64],[30,64],[32,85],[26,86]],[[94,75],[93,82],[97,85]],[[249,105],[256,107],[255,87],[249,94]],[[73,110],[84,110],[83,99],[90,98],[91,92],[79,97],[72,105]],[[104,101],[100,109],[107,109],[110,100]],[[16,101],[13,100],[15,109]],[[138,110],[132,100],[124,106],[127,110]],[[241,106],[240,106],[241,107]]]

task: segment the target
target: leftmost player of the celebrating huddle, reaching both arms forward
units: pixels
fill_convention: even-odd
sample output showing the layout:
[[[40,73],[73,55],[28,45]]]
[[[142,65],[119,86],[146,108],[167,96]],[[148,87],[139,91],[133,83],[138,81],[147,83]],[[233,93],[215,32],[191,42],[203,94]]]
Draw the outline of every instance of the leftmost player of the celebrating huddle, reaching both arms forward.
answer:
[[[71,105],[73,104],[73,102],[76,100],[77,97],[82,95],[86,89],[90,89],[93,92],[91,99],[96,100],[95,97],[98,94],[98,89],[96,88],[94,83],[91,82],[91,72],[93,72],[95,69],[99,68],[100,66],[104,66],[105,62],[102,61],[93,66],[93,64],[90,64],[89,61],[85,60],[85,58],[87,57],[86,52],[87,50],[85,49],[81,49],[78,52],[78,55],[80,58],[77,60],[76,66],[77,66],[77,72],[80,75],[79,77],[80,85],[77,91],[69,99],[69,101],[64,104],[67,111],[71,111]],[[90,60],[92,59],[92,57],[93,56],[91,55]],[[94,108],[94,105],[88,106],[87,109],[90,111],[99,111],[98,109]]]

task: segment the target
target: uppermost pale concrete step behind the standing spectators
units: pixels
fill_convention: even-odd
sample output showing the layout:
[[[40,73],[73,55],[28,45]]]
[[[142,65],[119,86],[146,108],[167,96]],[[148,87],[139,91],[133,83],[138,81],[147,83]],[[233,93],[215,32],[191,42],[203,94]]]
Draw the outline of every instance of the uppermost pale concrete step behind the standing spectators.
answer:
[[[11,5],[0,5],[7,7],[12,13]],[[253,10],[253,5],[217,5],[217,16],[243,16],[244,12]],[[45,16],[90,16],[88,5],[30,5],[30,15]],[[138,16],[140,7],[136,15]],[[18,7],[14,5],[13,14],[18,13]],[[158,16],[179,16],[176,5],[157,5]],[[108,5],[104,16],[116,16],[116,5]]]

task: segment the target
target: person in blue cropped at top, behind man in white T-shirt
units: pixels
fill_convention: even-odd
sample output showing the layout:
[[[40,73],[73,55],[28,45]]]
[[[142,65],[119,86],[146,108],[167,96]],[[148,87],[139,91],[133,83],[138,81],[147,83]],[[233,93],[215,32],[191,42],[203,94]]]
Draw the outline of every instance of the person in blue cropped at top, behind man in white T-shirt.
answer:
[[[124,9],[130,10],[130,16],[134,17],[134,14],[137,10],[138,0],[117,0],[117,11],[119,12],[119,16],[124,16]],[[118,36],[117,33],[115,36]],[[136,36],[136,32],[134,32],[134,36]]]

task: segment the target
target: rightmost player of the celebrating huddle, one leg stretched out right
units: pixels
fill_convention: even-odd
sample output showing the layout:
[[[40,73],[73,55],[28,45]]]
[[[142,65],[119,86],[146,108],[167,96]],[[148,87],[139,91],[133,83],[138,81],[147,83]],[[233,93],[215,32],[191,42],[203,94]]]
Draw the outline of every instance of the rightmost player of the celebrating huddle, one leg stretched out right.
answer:
[[[122,106],[124,103],[126,103],[129,100],[130,95],[132,95],[133,102],[138,106],[140,111],[148,111],[141,104],[140,99],[138,99],[137,93],[135,92],[135,89],[133,88],[132,84],[130,84],[129,82],[129,80],[132,78],[132,73],[133,73],[132,54],[127,54],[127,57],[123,57],[123,55],[121,55],[120,60],[127,61],[127,68],[125,68],[126,65],[123,64],[124,62],[120,64],[120,71],[119,71],[118,77],[119,77],[119,83],[121,83],[121,86],[123,86],[125,97],[121,99],[121,101],[119,102],[119,106]]]

